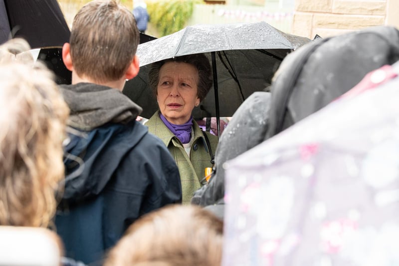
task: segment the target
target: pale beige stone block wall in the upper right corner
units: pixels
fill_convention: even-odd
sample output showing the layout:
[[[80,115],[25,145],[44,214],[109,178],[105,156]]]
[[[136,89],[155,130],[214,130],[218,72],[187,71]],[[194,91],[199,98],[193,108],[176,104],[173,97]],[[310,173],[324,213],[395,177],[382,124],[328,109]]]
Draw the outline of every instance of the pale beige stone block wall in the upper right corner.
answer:
[[[398,8],[398,0],[296,0],[291,32],[313,38],[376,25],[398,27]]]

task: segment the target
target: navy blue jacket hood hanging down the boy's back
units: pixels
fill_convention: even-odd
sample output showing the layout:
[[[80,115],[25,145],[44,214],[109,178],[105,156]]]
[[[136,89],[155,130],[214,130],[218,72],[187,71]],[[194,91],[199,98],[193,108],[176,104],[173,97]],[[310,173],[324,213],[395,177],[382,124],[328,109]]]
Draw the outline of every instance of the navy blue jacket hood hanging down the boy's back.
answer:
[[[68,205],[94,197],[103,191],[123,161],[141,139],[147,127],[137,121],[107,124],[91,131],[69,130],[64,148],[65,188],[62,203]]]

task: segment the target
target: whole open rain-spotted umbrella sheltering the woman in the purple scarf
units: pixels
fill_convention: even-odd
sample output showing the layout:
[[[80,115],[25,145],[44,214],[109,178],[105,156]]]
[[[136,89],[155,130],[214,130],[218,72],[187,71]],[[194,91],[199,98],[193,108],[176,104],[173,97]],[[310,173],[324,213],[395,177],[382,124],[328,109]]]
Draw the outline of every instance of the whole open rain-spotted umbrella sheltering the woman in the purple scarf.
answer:
[[[266,22],[189,26],[139,45],[141,70],[126,82],[124,93],[143,107],[142,116],[149,118],[158,109],[147,82],[150,64],[205,53],[212,62],[214,85],[193,116],[216,117],[219,125],[220,116],[232,116],[249,95],[269,86],[282,59],[309,41]]]

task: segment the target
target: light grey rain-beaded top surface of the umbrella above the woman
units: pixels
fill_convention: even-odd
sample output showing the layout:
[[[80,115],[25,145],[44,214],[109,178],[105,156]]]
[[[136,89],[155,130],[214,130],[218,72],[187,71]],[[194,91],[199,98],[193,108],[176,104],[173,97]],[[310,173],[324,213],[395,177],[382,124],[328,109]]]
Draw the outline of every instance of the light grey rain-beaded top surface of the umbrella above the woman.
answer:
[[[237,49],[294,50],[310,39],[284,33],[268,23],[202,24],[141,45],[140,66],[192,53]],[[282,57],[287,51],[275,51]]]

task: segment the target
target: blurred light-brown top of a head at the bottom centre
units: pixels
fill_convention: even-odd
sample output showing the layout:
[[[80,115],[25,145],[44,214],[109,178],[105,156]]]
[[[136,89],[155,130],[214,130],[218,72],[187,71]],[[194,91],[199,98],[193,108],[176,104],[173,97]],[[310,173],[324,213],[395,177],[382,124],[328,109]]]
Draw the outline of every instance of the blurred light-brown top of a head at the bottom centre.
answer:
[[[169,206],[134,223],[105,266],[220,266],[223,222],[197,206]]]

